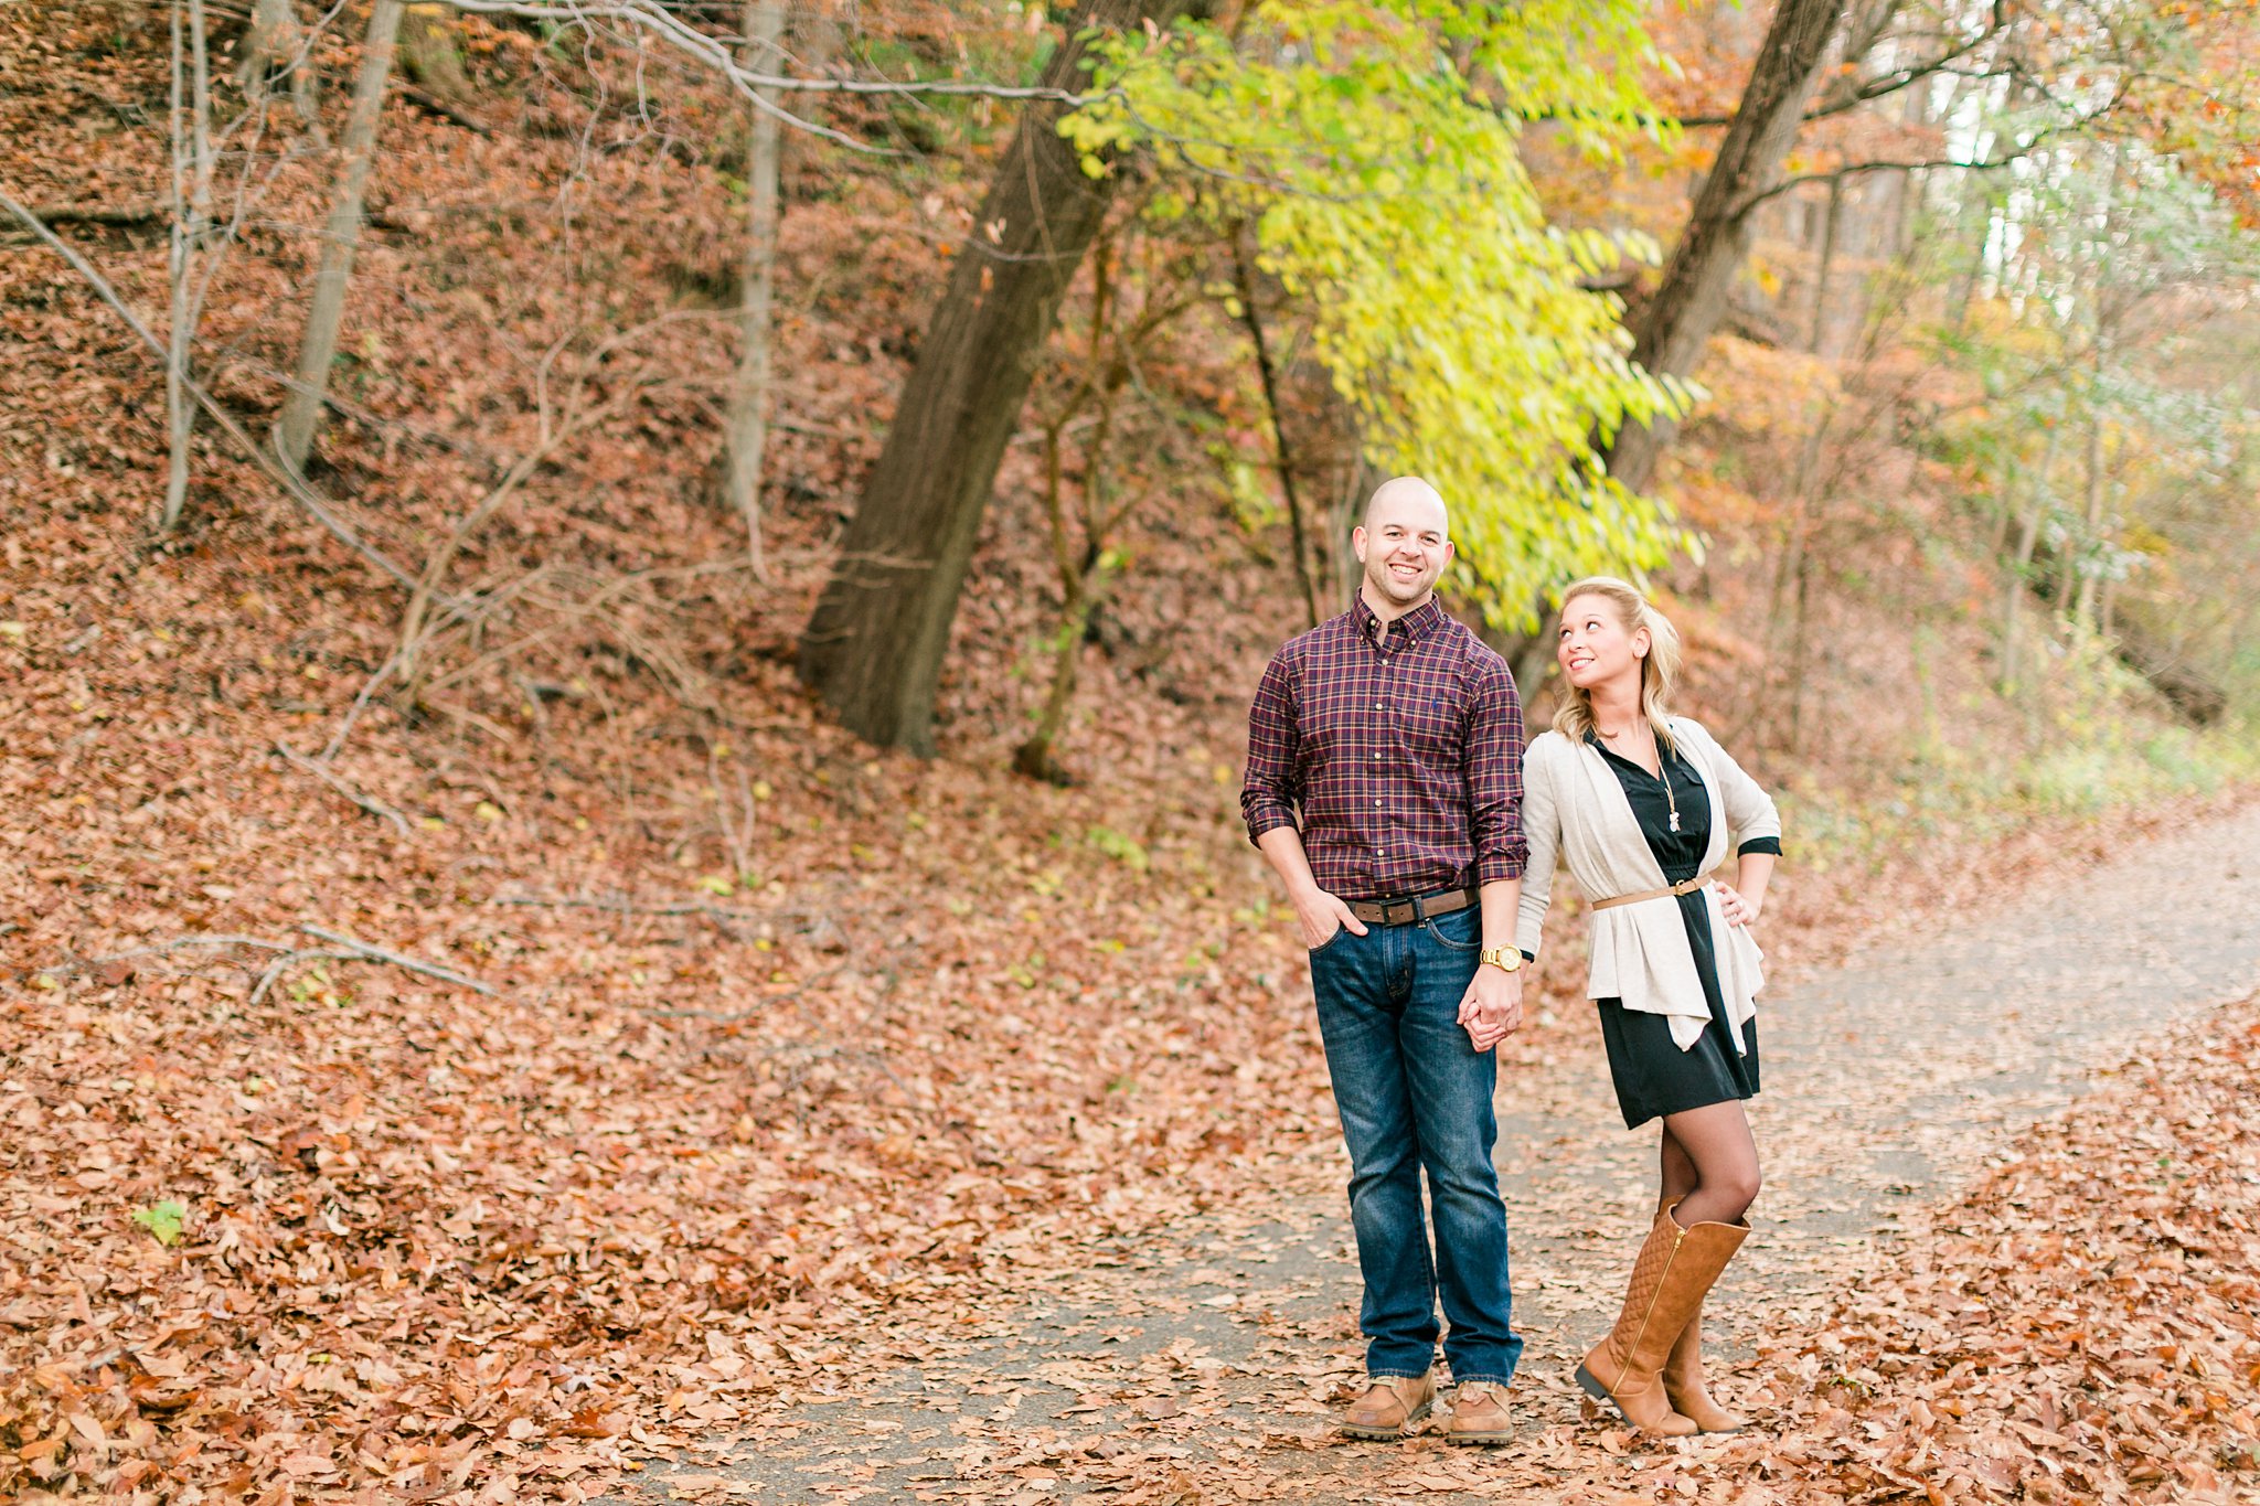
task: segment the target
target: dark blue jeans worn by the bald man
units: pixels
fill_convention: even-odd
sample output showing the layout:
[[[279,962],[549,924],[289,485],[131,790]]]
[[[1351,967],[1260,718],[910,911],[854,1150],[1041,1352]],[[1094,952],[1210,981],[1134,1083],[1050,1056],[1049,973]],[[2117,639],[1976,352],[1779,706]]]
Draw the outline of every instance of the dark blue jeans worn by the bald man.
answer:
[[[1507,1321],[1507,1210],[1492,1170],[1498,1066],[1458,1023],[1480,944],[1483,917],[1469,905],[1412,926],[1372,926],[1363,937],[1345,928],[1311,953],[1318,1027],[1349,1145],[1370,1375],[1428,1371],[1440,1296],[1455,1382],[1503,1386],[1523,1352]]]

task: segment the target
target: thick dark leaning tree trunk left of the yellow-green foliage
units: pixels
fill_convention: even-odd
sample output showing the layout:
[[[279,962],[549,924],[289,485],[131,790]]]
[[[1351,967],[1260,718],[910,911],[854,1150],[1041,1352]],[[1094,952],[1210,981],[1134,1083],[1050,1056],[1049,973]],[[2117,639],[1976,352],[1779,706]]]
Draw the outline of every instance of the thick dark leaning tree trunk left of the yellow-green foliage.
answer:
[[[1080,0],[1044,84],[1085,86],[1085,32],[1166,27],[1186,5]],[[1116,176],[1085,176],[1060,140],[1067,108],[1035,102],[1022,115],[800,639],[800,677],[879,745],[933,752],[933,689],[981,513],[1060,298],[1114,194]]]

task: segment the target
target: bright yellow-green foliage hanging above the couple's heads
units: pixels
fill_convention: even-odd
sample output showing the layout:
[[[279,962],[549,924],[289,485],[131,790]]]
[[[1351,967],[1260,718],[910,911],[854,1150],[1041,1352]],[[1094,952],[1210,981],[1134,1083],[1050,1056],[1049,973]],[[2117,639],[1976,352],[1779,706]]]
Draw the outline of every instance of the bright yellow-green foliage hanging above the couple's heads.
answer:
[[[1593,452],[1690,397],[1634,368],[1623,305],[1580,287],[1654,246],[1548,226],[1516,154],[1528,117],[1598,156],[1650,126],[1638,18],[1625,0],[1275,0],[1236,36],[1189,25],[1101,50],[1110,93],[1062,124],[1094,172],[1105,149],[1150,149],[1168,185],[1155,212],[1254,221],[1367,458],[1444,492],[1462,585],[1501,625],[1535,625],[1575,576],[1688,544]]]

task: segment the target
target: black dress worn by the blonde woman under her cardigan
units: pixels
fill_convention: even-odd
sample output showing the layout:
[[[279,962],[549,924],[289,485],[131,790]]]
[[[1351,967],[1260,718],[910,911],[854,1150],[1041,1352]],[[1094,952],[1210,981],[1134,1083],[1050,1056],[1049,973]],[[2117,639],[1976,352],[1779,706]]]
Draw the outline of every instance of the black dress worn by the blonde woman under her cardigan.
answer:
[[[1684,883],[1702,869],[1702,853],[1711,844],[1711,795],[1704,790],[1695,765],[1659,743],[1663,754],[1663,779],[1670,779],[1670,799],[1663,795],[1663,779],[1650,774],[1632,759],[1620,759],[1600,738],[1587,736],[1600,747],[1602,761],[1616,770],[1616,781],[1625,786],[1632,815],[1641,822],[1648,849],[1663,865],[1663,883]],[[1679,831],[1672,831],[1672,804],[1679,806]],[[1742,842],[1745,853],[1779,853],[1781,838],[1754,838]],[[1711,1005],[1711,1023],[1704,1025],[1695,1045],[1679,1050],[1672,1041],[1670,1016],[1625,1009],[1620,998],[1598,998],[1600,1039],[1609,1048],[1609,1077],[1616,1082],[1616,1104],[1625,1111],[1625,1129],[1645,1124],[1666,1113],[1724,1104],[1749,1097],[1758,1091],[1758,1023],[1742,1021],[1742,1052],[1733,1050],[1733,1027],[1727,1018],[1727,1000],[1718,987],[1718,953],[1711,946],[1711,912],[1704,908],[1702,890],[1675,896],[1679,919],[1688,928],[1688,948],[1695,953],[1695,975],[1702,978],[1704,1000]]]

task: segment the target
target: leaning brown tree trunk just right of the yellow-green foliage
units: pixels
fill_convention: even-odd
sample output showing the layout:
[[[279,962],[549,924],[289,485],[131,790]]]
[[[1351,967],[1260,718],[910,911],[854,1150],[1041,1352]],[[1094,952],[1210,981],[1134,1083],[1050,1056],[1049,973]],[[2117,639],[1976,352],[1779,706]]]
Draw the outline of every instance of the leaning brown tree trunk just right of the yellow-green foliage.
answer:
[[[1663,282],[1634,321],[1632,359],[1648,370],[1690,375],[1727,314],[1727,289],[1749,255],[1749,210],[1781,181],[1781,163],[1797,142],[1842,11],[1844,0],[1781,0],[1774,11],[1727,140],[1663,266]],[[1609,447],[1609,474],[1636,492],[1645,490],[1670,429],[1625,424]]]

